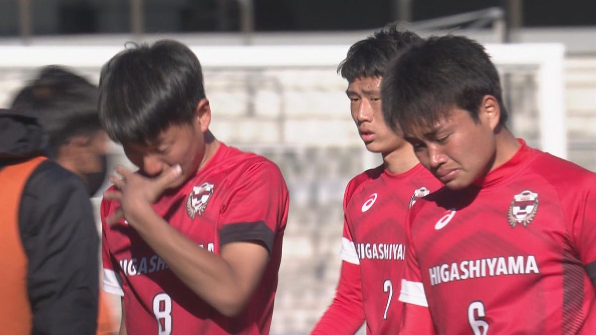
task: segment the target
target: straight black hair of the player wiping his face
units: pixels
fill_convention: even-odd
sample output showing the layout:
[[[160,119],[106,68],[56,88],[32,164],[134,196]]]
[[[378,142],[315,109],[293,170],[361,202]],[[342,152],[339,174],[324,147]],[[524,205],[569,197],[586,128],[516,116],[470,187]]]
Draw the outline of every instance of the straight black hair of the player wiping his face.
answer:
[[[204,97],[201,64],[180,42],[135,44],[101,69],[100,120],[116,142],[147,144],[170,125],[191,123]]]

